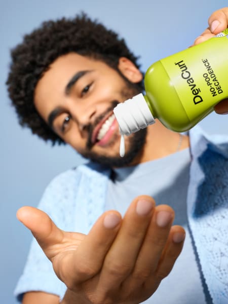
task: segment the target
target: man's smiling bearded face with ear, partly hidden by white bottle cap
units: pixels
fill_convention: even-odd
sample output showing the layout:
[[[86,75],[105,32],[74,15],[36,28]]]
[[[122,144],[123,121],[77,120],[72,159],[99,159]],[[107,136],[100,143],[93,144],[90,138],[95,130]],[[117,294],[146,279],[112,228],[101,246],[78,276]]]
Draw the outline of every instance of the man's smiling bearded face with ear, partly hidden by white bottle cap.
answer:
[[[126,156],[120,158],[113,108],[139,93],[134,83],[142,75],[126,58],[119,68],[124,77],[102,61],[70,53],[51,64],[34,94],[37,111],[54,132],[84,157],[110,166],[131,162],[145,133],[128,136]]]

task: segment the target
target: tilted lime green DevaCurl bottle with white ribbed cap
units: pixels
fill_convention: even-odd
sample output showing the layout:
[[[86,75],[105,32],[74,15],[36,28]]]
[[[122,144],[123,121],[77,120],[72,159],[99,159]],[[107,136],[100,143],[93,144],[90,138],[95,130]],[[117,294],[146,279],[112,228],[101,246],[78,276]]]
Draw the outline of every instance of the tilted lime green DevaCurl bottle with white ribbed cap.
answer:
[[[176,132],[191,129],[228,97],[228,29],[211,39],[152,64],[145,73],[146,95],[114,109],[122,134],[159,119]]]

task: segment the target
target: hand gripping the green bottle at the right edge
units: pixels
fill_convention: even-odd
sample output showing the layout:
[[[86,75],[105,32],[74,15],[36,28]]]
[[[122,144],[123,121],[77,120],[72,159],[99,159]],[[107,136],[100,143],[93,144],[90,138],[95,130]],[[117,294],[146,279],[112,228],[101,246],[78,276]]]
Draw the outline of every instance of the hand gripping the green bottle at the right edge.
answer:
[[[208,19],[208,25],[208,28],[197,37],[194,45],[208,40],[228,27],[228,8],[225,7],[212,13]],[[216,104],[214,110],[218,114],[228,114],[228,99],[224,99]]]

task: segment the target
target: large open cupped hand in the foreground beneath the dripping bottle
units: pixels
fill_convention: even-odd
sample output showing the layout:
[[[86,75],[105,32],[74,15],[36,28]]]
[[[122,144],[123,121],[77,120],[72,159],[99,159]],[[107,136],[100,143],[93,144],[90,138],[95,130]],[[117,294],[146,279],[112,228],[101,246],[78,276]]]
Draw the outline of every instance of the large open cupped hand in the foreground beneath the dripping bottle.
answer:
[[[88,235],[60,230],[43,211],[22,207],[18,219],[32,232],[67,286],[62,303],[139,303],[158,288],[181,252],[184,230],[174,211],[136,198],[124,218],[102,214]]]

